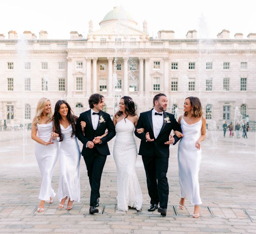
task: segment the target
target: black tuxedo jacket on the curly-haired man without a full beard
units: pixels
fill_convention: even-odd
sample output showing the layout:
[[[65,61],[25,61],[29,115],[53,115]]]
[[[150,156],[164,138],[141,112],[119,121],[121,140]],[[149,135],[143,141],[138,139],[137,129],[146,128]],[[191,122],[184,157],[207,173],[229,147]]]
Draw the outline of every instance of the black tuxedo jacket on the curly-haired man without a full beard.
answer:
[[[75,135],[83,143],[82,156],[88,157],[94,153],[94,149],[86,147],[86,144],[88,141],[93,141],[94,137],[102,136],[105,133],[106,129],[108,130],[107,136],[101,139],[101,144],[94,144],[94,147],[96,147],[97,151],[101,155],[110,154],[107,142],[116,135],[115,126],[108,113],[100,111],[99,117],[100,119],[102,117],[105,122],[98,122],[96,130],[93,129],[90,109],[81,113],[78,118],[78,121],[76,123]],[[82,133],[81,121],[86,122],[85,135],[83,135]]]

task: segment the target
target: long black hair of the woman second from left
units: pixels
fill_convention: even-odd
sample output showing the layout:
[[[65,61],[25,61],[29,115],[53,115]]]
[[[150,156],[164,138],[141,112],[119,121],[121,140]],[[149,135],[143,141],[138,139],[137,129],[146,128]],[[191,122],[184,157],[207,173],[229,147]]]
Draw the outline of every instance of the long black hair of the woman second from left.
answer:
[[[67,114],[67,120],[68,123],[71,124],[72,126],[72,134],[71,137],[74,137],[75,134],[75,121],[77,120],[77,117],[74,115],[74,112],[71,110],[70,105],[65,101],[65,100],[59,100],[58,102],[56,102],[55,104],[55,108],[54,108],[54,128],[55,128],[55,132],[59,134],[60,137],[60,142],[63,141],[63,136],[61,134],[61,129],[60,129],[60,119],[61,119],[61,115],[59,113],[60,110],[60,105],[61,104],[66,104],[68,107],[68,114]]]

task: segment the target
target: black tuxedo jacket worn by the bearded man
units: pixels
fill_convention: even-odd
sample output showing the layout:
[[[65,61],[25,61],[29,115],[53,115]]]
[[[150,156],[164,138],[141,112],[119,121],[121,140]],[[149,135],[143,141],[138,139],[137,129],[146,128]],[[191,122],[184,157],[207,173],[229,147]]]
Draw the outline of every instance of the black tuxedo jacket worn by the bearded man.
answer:
[[[152,109],[153,110],[153,109]],[[171,133],[171,130],[179,131],[181,132],[181,127],[177,123],[175,117],[173,114],[168,113],[166,111],[163,112],[163,118],[166,118],[167,116],[170,119],[170,122],[167,123],[166,121],[163,121],[162,128],[160,130],[160,133],[158,137],[155,139],[154,137],[154,131],[153,131],[153,121],[152,121],[152,110],[142,112],[140,114],[138,123],[135,128],[135,135],[141,139],[140,143],[140,150],[139,154],[142,156],[154,156],[156,154],[157,157],[161,158],[169,158],[169,146],[164,144],[165,142],[169,141],[169,136]],[[137,129],[144,128],[145,131],[143,133],[137,133]],[[154,139],[153,142],[149,142],[146,140],[146,133],[149,132],[150,139]],[[178,138],[176,135],[174,137],[174,145],[180,140],[181,138]]]

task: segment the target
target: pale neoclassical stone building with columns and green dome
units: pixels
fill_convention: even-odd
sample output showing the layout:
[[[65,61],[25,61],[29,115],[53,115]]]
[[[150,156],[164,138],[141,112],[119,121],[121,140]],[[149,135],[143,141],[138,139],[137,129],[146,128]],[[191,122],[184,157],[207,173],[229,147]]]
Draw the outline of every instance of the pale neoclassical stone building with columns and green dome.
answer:
[[[184,98],[201,99],[208,126],[234,121],[236,107],[242,118],[256,119],[256,34],[222,30],[216,39],[186,39],[161,30],[150,38],[147,22],[137,29],[133,17],[121,7],[106,14],[94,30],[89,22],[86,39],[70,32],[70,39],[39,39],[30,31],[8,39],[0,34],[1,126],[32,122],[36,103],[48,97],[54,105],[66,99],[74,112],[88,109],[88,97],[105,96],[106,111],[113,115],[123,95],[131,96],[137,111],[150,109],[155,94],[164,92],[169,110],[182,113]],[[238,112],[236,112],[238,114]],[[238,116],[241,119],[241,117]]]

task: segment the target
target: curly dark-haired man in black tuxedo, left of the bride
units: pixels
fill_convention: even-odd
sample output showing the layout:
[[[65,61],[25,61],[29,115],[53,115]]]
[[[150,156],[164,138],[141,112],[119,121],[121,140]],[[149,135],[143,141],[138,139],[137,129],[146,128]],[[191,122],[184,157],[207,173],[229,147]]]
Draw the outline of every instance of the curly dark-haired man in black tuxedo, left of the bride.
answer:
[[[93,94],[89,98],[90,110],[80,114],[76,123],[76,137],[83,143],[82,156],[85,160],[89,177],[91,194],[89,213],[99,213],[96,208],[99,206],[100,180],[107,155],[110,154],[107,142],[115,134],[115,126],[110,115],[103,112],[104,97],[100,94]],[[85,133],[81,128],[81,121],[86,122]],[[101,139],[95,137],[102,136],[106,129],[108,134]]]

